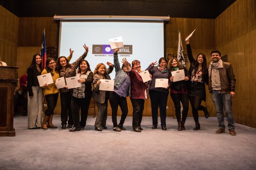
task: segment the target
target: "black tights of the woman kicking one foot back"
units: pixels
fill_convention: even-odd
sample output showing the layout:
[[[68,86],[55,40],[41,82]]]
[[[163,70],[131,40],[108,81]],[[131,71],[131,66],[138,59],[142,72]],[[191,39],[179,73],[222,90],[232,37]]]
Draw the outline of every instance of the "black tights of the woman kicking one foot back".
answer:
[[[188,96],[188,99],[189,99],[191,107],[192,107],[194,121],[198,122],[198,110],[204,110],[204,107],[201,105],[203,98]]]

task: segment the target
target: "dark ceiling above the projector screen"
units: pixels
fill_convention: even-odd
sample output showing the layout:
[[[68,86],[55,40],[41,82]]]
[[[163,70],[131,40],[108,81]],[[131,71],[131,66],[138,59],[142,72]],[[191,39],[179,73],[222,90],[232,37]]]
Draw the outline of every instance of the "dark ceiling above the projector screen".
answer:
[[[133,15],[215,19],[236,0],[0,0],[18,17]]]

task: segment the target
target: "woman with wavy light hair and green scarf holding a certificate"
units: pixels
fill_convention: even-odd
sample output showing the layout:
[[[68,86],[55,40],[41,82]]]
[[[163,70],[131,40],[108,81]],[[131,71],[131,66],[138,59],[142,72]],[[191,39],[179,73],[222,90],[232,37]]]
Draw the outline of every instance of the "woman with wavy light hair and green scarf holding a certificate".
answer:
[[[185,66],[181,65],[181,62],[176,57],[169,60],[168,68],[171,71],[184,70],[185,77],[184,80],[173,81],[174,76],[171,74],[170,77],[170,88],[171,88],[171,99],[173,99],[175,114],[178,122],[178,129],[185,129],[185,121],[188,115],[188,80],[190,79],[190,74]],[[181,103],[183,107],[182,119],[181,119]]]

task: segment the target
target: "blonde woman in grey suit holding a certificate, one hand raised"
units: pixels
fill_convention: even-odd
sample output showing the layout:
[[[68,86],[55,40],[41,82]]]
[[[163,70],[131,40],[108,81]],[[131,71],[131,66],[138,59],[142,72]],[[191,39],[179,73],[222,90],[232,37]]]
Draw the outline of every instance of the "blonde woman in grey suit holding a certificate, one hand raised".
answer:
[[[99,90],[99,85],[101,83],[101,79],[110,80],[109,74],[113,71],[113,64],[107,62],[109,66],[106,69],[106,66],[103,63],[99,63],[94,72],[93,72],[93,94],[92,97],[96,101],[98,112],[95,120],[95,130],[102,131],[102,128],[107,129],[107,111],[108,111],[108,98],[110,91]]]

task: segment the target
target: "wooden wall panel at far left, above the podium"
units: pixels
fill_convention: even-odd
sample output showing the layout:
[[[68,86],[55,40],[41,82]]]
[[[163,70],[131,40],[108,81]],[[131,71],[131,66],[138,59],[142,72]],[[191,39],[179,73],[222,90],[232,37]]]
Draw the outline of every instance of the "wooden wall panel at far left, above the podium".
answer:
[[[18,22],[16,15],[0,6],[0,57],[8,66],[16,66]]]

